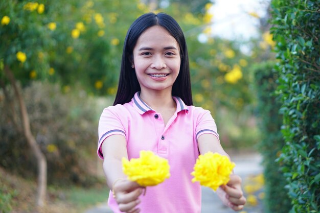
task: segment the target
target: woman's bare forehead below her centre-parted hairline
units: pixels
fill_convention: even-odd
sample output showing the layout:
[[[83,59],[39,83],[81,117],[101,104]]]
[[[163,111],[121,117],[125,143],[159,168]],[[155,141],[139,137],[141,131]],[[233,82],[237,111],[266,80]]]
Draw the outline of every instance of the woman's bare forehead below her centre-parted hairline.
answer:
[[[179,48],[175,38],[161,26],[150,27],[140,35],[135,48],[139,49],[142,46],[174,46],[177,49]]]

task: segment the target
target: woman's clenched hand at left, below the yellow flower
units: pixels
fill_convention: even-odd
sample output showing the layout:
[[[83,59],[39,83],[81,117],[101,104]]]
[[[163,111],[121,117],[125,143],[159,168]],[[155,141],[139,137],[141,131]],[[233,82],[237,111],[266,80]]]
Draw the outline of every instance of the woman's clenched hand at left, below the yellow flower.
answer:
[[[127,213],[138,213],[140,208],[136,208],[141,201],[139,196],[143,188],[136,182],[129,180],[117,180],[113,184],[114,197],[118,203],[119,209]]]

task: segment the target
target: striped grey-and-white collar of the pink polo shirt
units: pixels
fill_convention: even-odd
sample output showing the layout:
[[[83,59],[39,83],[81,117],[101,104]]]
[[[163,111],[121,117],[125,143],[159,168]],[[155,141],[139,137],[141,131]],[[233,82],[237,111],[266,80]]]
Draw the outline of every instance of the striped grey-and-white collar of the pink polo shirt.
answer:
[[[177,104],[176,112],[180,112],[182,110],[188,111],[187,105],[177,96],[172,97]],[[144,114],[147,111],[155,111],[151,107],[149,107],[141,98],[140,91],[135,92],[133,98],[131,99],[133,103],[133,107],[140,113]]]

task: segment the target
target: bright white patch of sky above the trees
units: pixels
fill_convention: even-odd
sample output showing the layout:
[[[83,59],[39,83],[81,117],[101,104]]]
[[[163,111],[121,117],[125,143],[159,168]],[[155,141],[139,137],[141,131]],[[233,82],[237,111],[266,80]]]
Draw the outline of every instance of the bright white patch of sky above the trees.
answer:
[[[213,13],[212,32],[226,39],[248,40],[258,36],[259,20],[248,13],[260,17],[266,15],[270,0],[215,0],[210,12]]]

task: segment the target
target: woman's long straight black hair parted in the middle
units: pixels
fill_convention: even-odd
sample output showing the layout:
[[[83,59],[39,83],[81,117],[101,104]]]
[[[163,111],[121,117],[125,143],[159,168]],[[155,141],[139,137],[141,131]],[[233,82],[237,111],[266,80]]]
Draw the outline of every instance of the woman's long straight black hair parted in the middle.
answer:
[[[186,39],[176,20],[166,13],[146,13],[130,26],[124,41],[118,91],[113,105],[131,101],[134,93],[141,90],[135,71],[131,68],[133,49],[139,36],[152,26],[164,27],[179,44],[180,71],[172,86],[172,96],[180,97],[186,105],[193,105]]]

